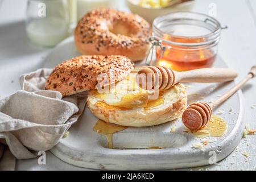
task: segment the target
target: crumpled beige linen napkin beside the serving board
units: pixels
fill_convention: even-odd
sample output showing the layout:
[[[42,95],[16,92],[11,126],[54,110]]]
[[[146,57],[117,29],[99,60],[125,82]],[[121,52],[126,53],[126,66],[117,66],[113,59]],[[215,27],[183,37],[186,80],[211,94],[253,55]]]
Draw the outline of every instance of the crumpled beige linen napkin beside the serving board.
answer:
[[[51,71],[20,76],[22,90],[0,101],[0,142],[17,159],[35,158],[36,151],[51,149],[84,110],[86,93],[62,98],[60,92],[44,90]]]

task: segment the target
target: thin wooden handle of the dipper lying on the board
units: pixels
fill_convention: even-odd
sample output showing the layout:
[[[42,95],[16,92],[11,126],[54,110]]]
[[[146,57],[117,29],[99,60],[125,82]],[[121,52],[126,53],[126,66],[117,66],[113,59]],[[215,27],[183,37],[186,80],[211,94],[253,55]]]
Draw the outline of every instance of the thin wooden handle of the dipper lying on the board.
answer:
[[[237,92],[237,90],[239,90],[243,85],[245,85],[245,83],[250,80],[251,78],[256,76],[256,66],[252,67],[250,72],[248,73],[248,75],[243,78],[243,80],[241,80],[236,86],[234,86],[232,89],[230,89],[227,93],[225,93],[223,96],[221,96],[220,98],[218,98],[218,100],[213,101],[211,104],[209,104],[212,109],[218,105],[220,105],[222,102],[224,102],[225,100],[227,100],[229,97],[231,97],[234,93]]]

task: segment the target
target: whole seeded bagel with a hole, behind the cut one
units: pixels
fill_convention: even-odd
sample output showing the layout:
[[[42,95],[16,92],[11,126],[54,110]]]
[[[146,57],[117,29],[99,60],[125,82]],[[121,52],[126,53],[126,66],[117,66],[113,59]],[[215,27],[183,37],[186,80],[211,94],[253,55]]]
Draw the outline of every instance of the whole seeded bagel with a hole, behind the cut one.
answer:
[[[98,9],[80,19],[75,44],[82,55],[123,55],[138,61],[147,55],[150,36],[150,24],[141,16]]]

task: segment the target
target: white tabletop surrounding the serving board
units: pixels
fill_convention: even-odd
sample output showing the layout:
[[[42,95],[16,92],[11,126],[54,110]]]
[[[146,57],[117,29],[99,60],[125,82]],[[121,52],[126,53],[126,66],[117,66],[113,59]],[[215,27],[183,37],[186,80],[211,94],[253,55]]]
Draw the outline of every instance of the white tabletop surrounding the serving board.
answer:
[[[256,65],[256,1],[255,0],[196,0],[193,11],[209,13],[210,3],[215,3],[217,19],[222,26],[219,55],[230,68],[240,73],[237,80]],[[120,8],[127,10],[122,2]],[[42,68],[43,57],[51,49],[38,48],[26,36],[24,19],[26,0],[0,0],[0,99],[20,89],[19,75]],[[250,129],[256,129],[256,79],[249,81],[242,89],[245,102],[245,119]],[[255,170],[256,135],[241,140],[237,149],[218,165],[193,168],[193,170]],[[246,158],[244,152],[249,154]],[[62,162],[47,152],[46,165],[39,165],[38,159],[17,160],[16,170],[86,170]]]

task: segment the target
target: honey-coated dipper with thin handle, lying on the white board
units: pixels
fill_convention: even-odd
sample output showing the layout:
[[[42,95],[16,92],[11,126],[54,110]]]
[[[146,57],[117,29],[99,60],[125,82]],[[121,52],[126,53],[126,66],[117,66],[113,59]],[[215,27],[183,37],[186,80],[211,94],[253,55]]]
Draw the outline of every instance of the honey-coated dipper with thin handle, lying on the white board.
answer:
[[[207,102],[195,102],[187,107],[182,115],[182,121],[189,130],[198,130],[204,127],[212,116],[213,109],[227,100],[230,96],[237,92],[248,80],[256,76],[256,65],[253,66],[248,75],[243,78],[236,86],[226,92],[218,100],[210,104]]]

